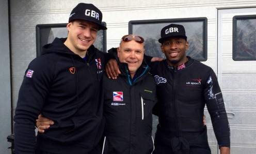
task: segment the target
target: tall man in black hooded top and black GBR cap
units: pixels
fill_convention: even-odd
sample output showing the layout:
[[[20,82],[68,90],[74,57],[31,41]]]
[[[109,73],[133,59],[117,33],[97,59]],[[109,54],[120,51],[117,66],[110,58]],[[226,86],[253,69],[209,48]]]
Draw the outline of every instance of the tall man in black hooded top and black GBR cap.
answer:
[[[67,38],[43,47],[24,75],[14,116],[15,153],[101,153],[103,97],[100,79],[106,53],[92,44],[102,13],[92,4],[71,12]],[[35,137],[38,115],[54,124]],[[40,126],[39,126],[40,127]]]

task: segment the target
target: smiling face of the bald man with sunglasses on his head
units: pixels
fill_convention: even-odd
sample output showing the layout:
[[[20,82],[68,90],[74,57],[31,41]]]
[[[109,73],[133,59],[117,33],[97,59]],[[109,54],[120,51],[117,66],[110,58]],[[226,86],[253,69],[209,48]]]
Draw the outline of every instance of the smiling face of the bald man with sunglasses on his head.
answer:
[[[121,63],[128,64],[132,78],[142,64],[144,52],[144,44],[138,43],[135,40],[127,42],[121,41],[120,47],[117,48],[117,56],[119,57],[119,61]]]

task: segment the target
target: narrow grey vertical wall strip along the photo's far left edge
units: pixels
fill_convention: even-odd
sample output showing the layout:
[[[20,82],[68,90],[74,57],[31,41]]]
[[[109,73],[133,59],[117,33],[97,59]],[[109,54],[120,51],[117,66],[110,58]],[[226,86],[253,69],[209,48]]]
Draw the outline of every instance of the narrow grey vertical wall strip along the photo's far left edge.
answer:
[[[0,0],[0,153],[11,153],[7,136],[11,134],[11,77],[8,1]]]

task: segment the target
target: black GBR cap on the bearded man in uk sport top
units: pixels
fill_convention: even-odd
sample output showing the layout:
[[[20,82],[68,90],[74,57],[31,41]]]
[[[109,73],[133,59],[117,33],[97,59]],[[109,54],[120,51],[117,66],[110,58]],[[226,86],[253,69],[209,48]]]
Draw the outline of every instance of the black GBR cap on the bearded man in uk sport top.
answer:
[[[170,24],[168,26],[165,26],[161,30],[161,38],[159,38],[158,42],[163,43],[165,38],[167,37],[183,37],[185,40],[187,40],[185,28],[182,25],[178,24]]]

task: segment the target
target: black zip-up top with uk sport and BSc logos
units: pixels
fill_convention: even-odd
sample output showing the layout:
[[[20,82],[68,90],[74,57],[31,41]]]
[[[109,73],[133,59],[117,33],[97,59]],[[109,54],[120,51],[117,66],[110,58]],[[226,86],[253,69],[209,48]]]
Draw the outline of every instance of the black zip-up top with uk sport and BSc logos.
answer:
[[[155,144],[172,145],[176,150],[179,146],[209,148],[203,126],[206,104],[219,147],[230,147],[229,122],[216,74],[209,66],[187,58],[178,68],[166,60],[150,65],[158,99]]]

